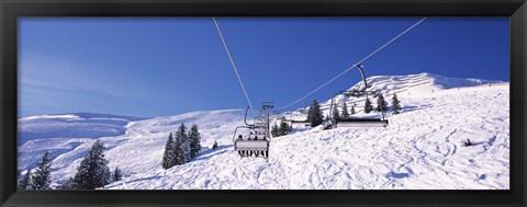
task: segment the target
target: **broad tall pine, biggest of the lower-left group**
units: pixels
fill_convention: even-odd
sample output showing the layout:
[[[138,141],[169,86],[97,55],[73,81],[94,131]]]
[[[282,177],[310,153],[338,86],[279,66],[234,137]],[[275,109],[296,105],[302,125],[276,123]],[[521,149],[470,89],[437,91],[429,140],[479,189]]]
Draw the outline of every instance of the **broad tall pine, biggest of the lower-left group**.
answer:
[[[74,188],[94,189],[110,184],[111,173],[104,159],[104,146],[97,140],[77,168]]]

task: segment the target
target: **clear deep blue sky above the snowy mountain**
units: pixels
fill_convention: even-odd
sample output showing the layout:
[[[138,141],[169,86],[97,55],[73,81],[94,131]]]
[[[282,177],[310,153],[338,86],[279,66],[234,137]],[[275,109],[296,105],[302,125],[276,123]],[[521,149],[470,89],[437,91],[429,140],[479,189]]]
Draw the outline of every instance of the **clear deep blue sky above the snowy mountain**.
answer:
[[[255,107],[298,100],[418,20],[217,19]],[[429,18],[363,65],[367,76],[509,81],[509,21]],[[307,101],[329,99],[359,80],[351,70]],[[19,116],[152,117],[246,105],[211,18],[19,19]]]

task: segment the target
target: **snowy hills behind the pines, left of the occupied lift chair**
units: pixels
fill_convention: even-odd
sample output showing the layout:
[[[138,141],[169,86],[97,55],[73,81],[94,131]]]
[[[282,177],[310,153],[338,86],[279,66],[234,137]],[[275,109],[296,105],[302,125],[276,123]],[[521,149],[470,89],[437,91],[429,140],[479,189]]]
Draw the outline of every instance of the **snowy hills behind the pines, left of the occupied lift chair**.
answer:
[[[70,177],[97,139],[106,147],[111,169],[119,166],[125,175],[158,169],[168,134],[176,131],[181,123],[188,127],[198,124],[203,128],[200,130],[202,146],[212,146],[214,140],[226,145],[228,139],[223,136],[243,125],[244,113],[243,110],[192,112],[148,119],[102,114],[90,114],[97,116],[89,117],[64,114],[21,118],[19,137],[25,141],[19,145],[19,171],[34,168],[44,151],[49,150],[54,159],[54,180]],[[38,137],[41,134],[43,137]]]

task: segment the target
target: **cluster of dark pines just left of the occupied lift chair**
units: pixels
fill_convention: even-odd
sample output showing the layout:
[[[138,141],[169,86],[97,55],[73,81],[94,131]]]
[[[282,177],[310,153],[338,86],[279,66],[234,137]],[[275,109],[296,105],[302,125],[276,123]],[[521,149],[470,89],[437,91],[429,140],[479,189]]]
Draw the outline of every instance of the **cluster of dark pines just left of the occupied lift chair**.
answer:
[[[181,123],[176,135],[170,133],[168,136],[162,154],[162,168],[169,169],[173,165],[190,162],[190,160],[200,152],[200,139],[201,136],[198,130],[198,125],[192,125],[190,131],[187,133],[184,123]]]

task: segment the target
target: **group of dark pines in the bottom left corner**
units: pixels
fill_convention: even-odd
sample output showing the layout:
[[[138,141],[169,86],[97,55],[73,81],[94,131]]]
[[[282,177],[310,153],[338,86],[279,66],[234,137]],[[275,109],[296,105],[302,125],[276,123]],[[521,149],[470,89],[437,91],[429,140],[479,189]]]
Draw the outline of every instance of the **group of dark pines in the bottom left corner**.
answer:
[[[108,163],[108,160],[104,158],[104,145],[97,140],[80,162],[75,176],[66,180],[57,188],[94,189],[120,181],[123,176],[122,171],[115,168],[114,172],[111,173]],[[35,173],[32,174],[31,170],[27,170],[22,180],[20,180],[19,189],[51,189],[51,154],[46,151],[42,161],[38,162]]]

